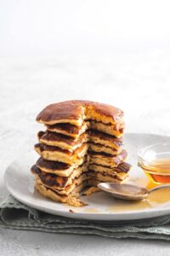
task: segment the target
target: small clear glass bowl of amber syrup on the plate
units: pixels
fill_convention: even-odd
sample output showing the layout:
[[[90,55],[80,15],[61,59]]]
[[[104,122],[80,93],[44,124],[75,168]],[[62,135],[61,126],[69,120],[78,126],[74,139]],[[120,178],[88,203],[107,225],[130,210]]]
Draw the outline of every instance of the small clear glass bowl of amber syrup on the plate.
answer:
[[[150,182],[170,183],[170,143],[156,143],[141,148],[138,152],[138,165]]]

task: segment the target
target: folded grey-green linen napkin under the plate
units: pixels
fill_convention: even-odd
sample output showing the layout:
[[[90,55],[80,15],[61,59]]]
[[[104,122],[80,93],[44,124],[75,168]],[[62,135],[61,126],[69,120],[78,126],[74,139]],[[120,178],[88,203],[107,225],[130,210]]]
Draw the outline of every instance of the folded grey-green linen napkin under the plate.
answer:
[[[0,227],[111,238],[170,240],[170,216],[127,222],[94,222],[37,211],[8,195],[0,203]]]

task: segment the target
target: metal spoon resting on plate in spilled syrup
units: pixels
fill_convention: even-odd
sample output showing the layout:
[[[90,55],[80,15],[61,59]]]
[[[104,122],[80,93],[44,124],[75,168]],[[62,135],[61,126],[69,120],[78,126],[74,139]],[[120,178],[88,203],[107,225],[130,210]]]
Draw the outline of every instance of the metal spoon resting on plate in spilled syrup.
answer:
[[[156,188],[150,190],[128,183],[99,183],[98,188],[118,199],[127,201],[141,201],[154,190],[170,188],[170,183],[157,186]]]

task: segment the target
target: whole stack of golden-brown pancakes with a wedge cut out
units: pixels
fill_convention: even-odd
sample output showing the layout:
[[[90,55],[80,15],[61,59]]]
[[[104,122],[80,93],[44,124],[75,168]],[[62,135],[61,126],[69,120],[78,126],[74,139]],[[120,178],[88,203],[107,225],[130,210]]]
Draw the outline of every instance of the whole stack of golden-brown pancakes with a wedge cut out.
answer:
[[[100,182],[122,183],[130,165],[122,149],[122,110],[87,101],[59,102],[44,108],[37,121],[35,150],[40,154],[31,172],[44,196],[73,206],[83,189]]]

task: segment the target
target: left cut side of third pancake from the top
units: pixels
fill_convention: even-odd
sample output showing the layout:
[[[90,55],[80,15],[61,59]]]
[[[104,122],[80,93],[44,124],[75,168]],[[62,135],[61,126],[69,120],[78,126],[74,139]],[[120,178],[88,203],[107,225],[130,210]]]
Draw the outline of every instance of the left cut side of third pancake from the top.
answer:
[[[74,151],[80,148],[82,143],[88,142],[88,133],[83,133],[78,139],[68,137],[52,131],[39,131],[37,134],[40,143]]]

